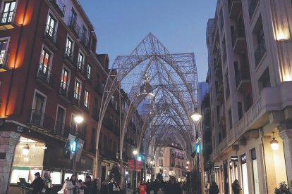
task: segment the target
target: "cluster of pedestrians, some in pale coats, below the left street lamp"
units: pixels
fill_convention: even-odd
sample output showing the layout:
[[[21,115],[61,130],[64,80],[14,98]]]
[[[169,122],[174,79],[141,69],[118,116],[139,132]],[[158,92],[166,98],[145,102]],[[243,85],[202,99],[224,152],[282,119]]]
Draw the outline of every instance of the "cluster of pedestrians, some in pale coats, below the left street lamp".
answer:
[[[91,176],[87,175],[85,182],[76,179],[73,174],[71,179],[67,178],[63,183],[61,192],[63,194],[97,194],[97,179],[91,180]]]

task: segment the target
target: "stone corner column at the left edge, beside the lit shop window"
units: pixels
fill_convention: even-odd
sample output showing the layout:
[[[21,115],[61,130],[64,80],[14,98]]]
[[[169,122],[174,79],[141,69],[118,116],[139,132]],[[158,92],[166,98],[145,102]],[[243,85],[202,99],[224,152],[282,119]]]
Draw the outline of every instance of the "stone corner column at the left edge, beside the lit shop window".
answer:
[[[8,193],[14,152],[20,134],[14,131],[0,131],[0,194]]]

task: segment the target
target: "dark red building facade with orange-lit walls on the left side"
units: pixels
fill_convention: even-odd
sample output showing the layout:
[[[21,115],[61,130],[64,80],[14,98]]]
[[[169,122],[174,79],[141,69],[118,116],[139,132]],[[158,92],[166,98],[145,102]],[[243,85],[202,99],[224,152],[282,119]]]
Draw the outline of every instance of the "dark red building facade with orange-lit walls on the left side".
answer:
[[[19,178],[31,182],[35,172],[51,174],[54,189],[61,188],[72,174],[63,153],[69,134],[84,141],[78,179],[107,179],[119,161],[121,93],[111,97],[102,123],[94,175],[109,58],[96,53],[82,6],[77,0],[2,0],[0,6],[0,193],[19,193]],[[75,123],[76,115],[83,123]]]

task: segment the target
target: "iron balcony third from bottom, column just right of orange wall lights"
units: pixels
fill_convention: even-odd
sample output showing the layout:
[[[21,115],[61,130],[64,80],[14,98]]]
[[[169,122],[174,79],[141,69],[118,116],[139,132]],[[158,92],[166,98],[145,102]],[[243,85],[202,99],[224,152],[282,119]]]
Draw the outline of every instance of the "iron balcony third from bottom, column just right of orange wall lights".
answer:
[[[51,50],[59,51],[60,37],[50,25],[46,25],[46,31],[44,32],[44,43],[46,43]]]

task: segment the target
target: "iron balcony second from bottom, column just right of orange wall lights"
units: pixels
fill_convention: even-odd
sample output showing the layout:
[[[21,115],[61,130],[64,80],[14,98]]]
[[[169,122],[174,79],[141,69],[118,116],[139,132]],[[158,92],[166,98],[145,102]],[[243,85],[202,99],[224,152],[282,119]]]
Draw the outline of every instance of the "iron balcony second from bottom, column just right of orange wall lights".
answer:
[[[56,85],[56,76],[51,73],[49,67],[43,65],[42,63],[39,63],[35,80],[47,89],[54,89]]]

